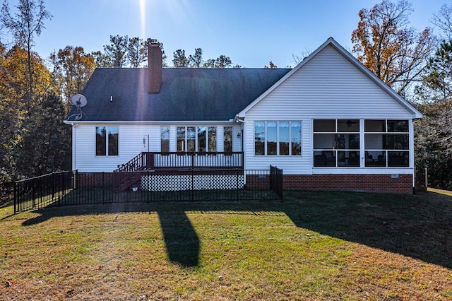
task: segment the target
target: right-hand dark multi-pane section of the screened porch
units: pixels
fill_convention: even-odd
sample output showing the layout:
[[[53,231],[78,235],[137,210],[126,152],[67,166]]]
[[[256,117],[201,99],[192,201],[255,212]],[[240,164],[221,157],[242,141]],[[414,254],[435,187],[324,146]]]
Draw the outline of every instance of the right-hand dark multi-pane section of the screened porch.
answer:
[[[366,167],[408,167],[408,120],[364,120]]]

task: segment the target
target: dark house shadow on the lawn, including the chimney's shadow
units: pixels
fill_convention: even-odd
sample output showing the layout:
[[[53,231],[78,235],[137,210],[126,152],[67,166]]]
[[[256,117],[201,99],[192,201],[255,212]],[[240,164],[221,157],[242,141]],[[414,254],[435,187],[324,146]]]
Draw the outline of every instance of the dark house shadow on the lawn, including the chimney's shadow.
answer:
[[[187,211],[285,213],[299,228],[452,268],[452,197],[424,192],[394,196],[355,192],[285,191],[285,201],[116,203],[45,208],[24,226],[54,216],[157,212],[167,255],[181,266],[197,266],[200,242]]]

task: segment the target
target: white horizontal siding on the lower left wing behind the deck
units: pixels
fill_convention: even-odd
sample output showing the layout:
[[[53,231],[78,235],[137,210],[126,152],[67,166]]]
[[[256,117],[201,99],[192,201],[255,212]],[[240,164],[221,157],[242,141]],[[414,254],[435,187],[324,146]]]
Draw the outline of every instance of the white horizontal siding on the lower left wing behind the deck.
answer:
[[[178,125],[182,126],[186,124]],[[200,123],[200,125],[204,124]],[[119,126],[119,155],[95,155],[96,126]],[[80,123],[73,127],[73,169],[80,172],[112,172],[117,169],[118,165],[129,162],[131,158],[143,151],[148,151],[148,135],[149,151],[159,152],[160,126],[168,126],[168,124]],[[231,124],[213,124],[212,126],[217,126],[217,146],[218,151],[222,151],[223,126],[231,126]],[[237,138],[237,133],[240,131],[240,125],[234,124],[233,126],[233,150],[240,151],[240,138]],[[169,126],[169,151],[176,151],[176,125]]]

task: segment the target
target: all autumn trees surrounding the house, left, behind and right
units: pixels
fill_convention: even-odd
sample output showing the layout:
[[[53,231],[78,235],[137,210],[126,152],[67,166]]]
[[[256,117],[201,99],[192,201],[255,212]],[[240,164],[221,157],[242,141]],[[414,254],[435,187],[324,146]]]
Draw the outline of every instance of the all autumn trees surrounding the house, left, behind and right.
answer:
[[[0,185],[22,177],[71,167],[71,129],[63,124],[71,95],[81,93],[96,67],[142,67],[148,45],[159,43],[163,66],[167,55],[155,39],[111,35],[100,51],[66,46],[46,60],[33,51],[35,37],[52,14],[44,0],[18,0],[18,14],[8,1],[1,6],[0,37]],[[436,187],[452,189],[452,5],[431,18],[438,33],[410,26],[412,4],[382,0],[358,12],[352,54],[383,82],[424,114],[415,123],[415,158],[429,167]],[[299,58],[292,54],[292,57]],[[297,60],[295,60],[297,63]],[[241,68],[230,57],[204,59],[177,49],[174,68]],[[278,68],[273,61],[264,68]]]

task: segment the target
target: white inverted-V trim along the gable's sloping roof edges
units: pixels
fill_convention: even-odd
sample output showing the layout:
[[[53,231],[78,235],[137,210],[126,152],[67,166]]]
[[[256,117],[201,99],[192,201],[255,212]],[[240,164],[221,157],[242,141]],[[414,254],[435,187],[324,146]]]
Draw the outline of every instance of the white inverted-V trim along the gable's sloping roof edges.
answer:
[[[281,78],[278,82],[276,82],[274,85],[272,85],[261,96],[256,98],[256,100],[254,100],[249,105],[247,105],[244,108],[244,110],[242,110],[241,112],[239,112],[239,114],[236,115],[236,118],[244,118],[246,116],[246,112],[251,110],[255,105],[258,104],[258,102],[263,100],[263,98],[266,98],[266,96],[268,94],[270,94],[273,90],[275,90],[275,88],[278,88],[278,86],[281,83],[285,82],[287,80],[287,78],[290,78],[290,76],[292,76],[293,73],[297,72],[300,68],[302,68],[302,66],[304,66],[309,61],[311,61],[311,59],[313,57],[315,57],[319,52],[321,52],[321,50],[323,50],[328,45],[333,46],[340,54],[343,55],[343,57],[345,57],[348,61],[350,61],[350,63],[352,63],[354,66],[356,66],[357,69],[359,69],[364,74],[366,74],[372,81],[374,81],[374,83],[379,85],[380,88],[382,88],[383,90],[386,91],[386,93],[391,95],[391,97],[394,100],[399,102],[400,105],[402,105],[403,107],[405,107],[406,110],[411,112],[412,118],[422,118],[423,117],[423,115],[418,110],[416,110],[415,107],[413,107],[412,105],[410,105],[410,103],[408,101],[406,101],[405,99],[400,97],[400,95],[398,95],[396,93],[396,91],[394,91],[392,88],[390,88],[388,85],[386,85],[386,83],[383,83],[383,81],[381,81],[380,78],[376,77],[374,73],[371,73],[371,71],[369,71],[369,69],[367,69],[363,64],[361,64],[361,62],[359,62],[355,57],[353,57],[352,54],[350,54],[350,52],[347,52],[347,50],[345,50],[345,48],[343,48],[338,42],[336,42],[333,39],[333,37],[329,37],[328,40],[323,42],[323,44],[319,48],[317,48],[314,52],[309,54],[308,57],[304,58],[302,62],[300,62],[297,66],[295,66],[294,69],[289,71],[289,73],[287,73],[285,76],[283,76],[283,78]]]

